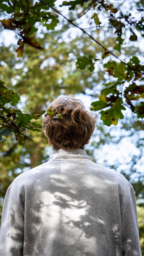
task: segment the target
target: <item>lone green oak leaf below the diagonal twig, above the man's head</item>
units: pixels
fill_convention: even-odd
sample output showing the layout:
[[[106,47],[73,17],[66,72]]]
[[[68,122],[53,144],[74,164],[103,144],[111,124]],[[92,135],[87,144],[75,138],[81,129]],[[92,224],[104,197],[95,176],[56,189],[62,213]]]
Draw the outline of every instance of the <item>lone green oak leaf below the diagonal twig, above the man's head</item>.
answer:
[[[94,62],[91,56],[77,58],[76,67],[80,69],[88,68],[89,71],[94,71]]]

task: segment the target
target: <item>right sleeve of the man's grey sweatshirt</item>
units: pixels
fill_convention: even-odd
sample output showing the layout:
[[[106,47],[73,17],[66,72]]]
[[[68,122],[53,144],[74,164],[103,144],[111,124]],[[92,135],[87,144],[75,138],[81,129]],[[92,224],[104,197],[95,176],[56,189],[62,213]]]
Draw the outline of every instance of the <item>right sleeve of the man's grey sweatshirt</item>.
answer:
[[[122,223],[122,252],[123,256],[141,256],[139,243],[139,229],[136,210],[134,189],[130,189],[130,195],[121,213]]]

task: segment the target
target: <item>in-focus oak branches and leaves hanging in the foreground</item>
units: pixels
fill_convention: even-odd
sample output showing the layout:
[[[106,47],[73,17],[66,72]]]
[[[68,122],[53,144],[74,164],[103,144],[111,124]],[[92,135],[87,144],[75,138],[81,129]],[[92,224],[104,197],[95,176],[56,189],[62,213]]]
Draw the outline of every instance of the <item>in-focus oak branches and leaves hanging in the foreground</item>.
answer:
[[[142,4],[135,3],[135,8],[138,12],[142,12]],[[63,6],[69,6],[68,18],[62,14]],[[58,31],[57,24],[62,26],[62,30],[66,29],[67,23],[70,26],[80,30],[87,39],[87,42],[94,42],[96,47],[99,47],[91,54],[83,54],[77,56],[76,66],[81,70],[88,69],[94,71],[96,65],[102,64],[106,68],[106,72],[113,77],[108,83],[103,83],[104,88],[98,95],[99,100],[94,101],[91,105],[91,110],[97,110],[101,113],[101,119],[107,126],[111,124],[117,125],[118,119],[123,118],[122,110],[125,110],[125,105],[129,106],[138,118],[144,116],[144,106],[141,99],[143,98],[144,85],[142,85],[142,75],[144,66],[140,64],[137,56],[129,55],[128,60],[121,58],[121,50],[125,48],[126,43],[133,43],[138,40],[138,37],[143,36],[143,17],[136,20],[130,13],[123,13],[119,9],[118,3],[115,6],[112,3],[101,1],[70,1],[63,2],[59,10],[55,6],[55,1],[45,2],[43,0],[36,1],[5,1],[1,4],[2,12],[6,12],[7,19],[1,19],[4,29],[15,31],[18,38],[18,49],[16,49],[17,57],[23,56],[24,45],[29,45],[38,50],[42,50],[45,54],[43,45],[37,41],[38,24],[41,24],[47,31]],[[121,6],[122,8],[122,6]],[[130,8],[131,9],[131,8]],[[91,18],[87,20],[91,27],[90,32],[87,28],[80,26],[81,19],[89,13]],[[108,16],[106,22],[103,22],[103,17]],[[61,21],[63,17],[63,22]],[[103,24],[104,23],[104,24]],[[93,26],[94,25],[94,26]],[[95,31],[104,29],[105,26],[111,32],[111,47],[97,40],[94,36]],[[93,29],[94,27],[94,29]],[[69,26],[67,27],[69,29]],[[129,40],[126,37],[129,35]],[[37,38],[36,38],[37,37]],[[100,56],[100,52],[101,53]],[[106,62],[108,59],[108,62]],[[140,102],[139,102],[140,100]],[[22,113],[19,109],[6,108],[5,103],[17,104],[19,95],[17,92],[12,92],[4,87],[1,83],[1,140],[15,133],[16,139],[23,144],[25,139],[30,138],[29,130],[39,130],[40,124],[37,119],[43,114],[39,112],[36,115]],[[49,110],[49,114],[53,114]],[[61,118],[62,113],[58,113],[57,118]],[[24,121],[25,120],[25,121]]]

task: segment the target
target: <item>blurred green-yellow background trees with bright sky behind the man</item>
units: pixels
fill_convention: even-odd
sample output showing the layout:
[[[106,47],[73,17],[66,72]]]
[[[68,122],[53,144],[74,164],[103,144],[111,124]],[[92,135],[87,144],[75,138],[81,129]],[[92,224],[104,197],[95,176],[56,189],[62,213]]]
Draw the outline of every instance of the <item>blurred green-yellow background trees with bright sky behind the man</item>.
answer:
[[[129,9],[135,5],[142,9],[142,1],[131,3],[127,1]],[[71,14],[70,14],[71,15]],[[85,15],[87,17],[88,14]],[[86,18],[88,19],[88,17]],[[17,46],[12,44],[4,35],[1,26],[1,78],[5,86],[14,92],[19,92],[20,101],[13,106],[22,112],[34,115],[46,111],[53,98],[59,95],[74,94],[80,98],[87,108],[98,98],[103,88],[102,83],[108,83],[111,77],[105,73],[103,62],[97,61],[93,73],[88,69],[78,69],[78,57],[101,56],[101,47],[96,45],[86,35],[75,32],[68,22],[61,20],[59,29],[46,31],[39,27],[39,43],[46,51],[43,53],[28,44],[22,59],[16,57]],[[95,29],[91,33],[101,40],[105,47],[113,48],[115,34],[112,28]],[[18,35],[14,36],[16,40]],[[127,37],[127,34],[125,34]],[[6,42],[9,40],[9,43]],[[129,57],[141,58],[141,45],[131,41],[122,46],[119,56],[127,61]],[[101,57],[100,57],[101,58]],[[108,57],[110,60],[113,58]],[[11,106],[11,104],[7,104]],[[137,119],[136,114],[126,107],[124,119],[120,119],[117,126],[103,125],[97,120],[90,144],[85,147],[87,154],[98,164],[121,172],[134,187],[138,205],[139,234],[142,253],[144,254],[144,176],[143,166],[143,121]],[[40,116],[39,123],[42,123]],[[33,141],[26,140],[19,145],[15,135],[9,135],[5,142],[0,142],[0,209],[2,212],[5,193],[14,178],[39,164],[49,160],[51,148],[41,130],[30,131]]]

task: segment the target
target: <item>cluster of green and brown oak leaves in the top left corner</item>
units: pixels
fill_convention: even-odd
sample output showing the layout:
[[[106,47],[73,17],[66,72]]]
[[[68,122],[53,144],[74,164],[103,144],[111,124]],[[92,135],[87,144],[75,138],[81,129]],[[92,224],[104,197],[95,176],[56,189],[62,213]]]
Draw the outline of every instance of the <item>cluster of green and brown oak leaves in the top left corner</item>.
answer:
[[[24,44],[44,50],[43,47],[33,38],[33,34],[38,30],[36,22],[40,22],[47,30],[53,30],[59,20],[57,15],[48,12],[49,6],[41,2],[31,5],[28,0],[6,1],[7,4],[1,4],[2,11],[11,14],[11,18],[0,20],[4,29],[14,30],[21,38],[18,41],[19,48],[16,49],[17,57],[23,56]],[[50,1],[53,6],[54,1]]]

